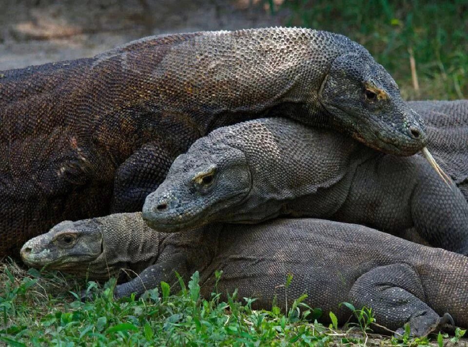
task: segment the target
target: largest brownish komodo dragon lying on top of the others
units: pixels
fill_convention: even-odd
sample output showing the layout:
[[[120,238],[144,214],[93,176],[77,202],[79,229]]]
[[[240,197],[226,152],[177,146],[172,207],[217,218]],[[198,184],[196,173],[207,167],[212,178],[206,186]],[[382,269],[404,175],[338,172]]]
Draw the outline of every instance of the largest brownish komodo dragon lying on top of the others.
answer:
[[[427,142],[385,69],[323,31],[150,37],[0,73],[0,257],[61,220],[140,210],[195,139],[278,113],[387,153]]]

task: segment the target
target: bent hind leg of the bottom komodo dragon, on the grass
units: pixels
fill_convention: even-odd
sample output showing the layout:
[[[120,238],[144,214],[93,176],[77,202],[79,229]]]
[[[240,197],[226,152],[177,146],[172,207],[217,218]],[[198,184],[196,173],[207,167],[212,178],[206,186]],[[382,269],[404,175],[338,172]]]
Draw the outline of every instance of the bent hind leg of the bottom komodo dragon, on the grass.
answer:
[[[351,287],[350,297],[355,307],[372,308],[376,323],[397,333],[409,323],[412,336],[425,336],[451,319],[448,314],[440,317],[425,302],[419,275],[408,264],[380,266],[364,273]]]

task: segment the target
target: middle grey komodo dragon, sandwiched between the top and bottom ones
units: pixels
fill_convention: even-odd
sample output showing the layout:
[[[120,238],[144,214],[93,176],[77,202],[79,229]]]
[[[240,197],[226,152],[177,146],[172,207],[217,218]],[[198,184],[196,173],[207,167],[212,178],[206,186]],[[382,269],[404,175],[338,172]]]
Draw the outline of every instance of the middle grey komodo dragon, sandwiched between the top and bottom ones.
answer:
[[[468,255],[468,202],[424,158],[382,154],[287,118],[254,119],[198,139],[143,207],[159,231],[278,215],[394,234],[414,227],[429,245]]]

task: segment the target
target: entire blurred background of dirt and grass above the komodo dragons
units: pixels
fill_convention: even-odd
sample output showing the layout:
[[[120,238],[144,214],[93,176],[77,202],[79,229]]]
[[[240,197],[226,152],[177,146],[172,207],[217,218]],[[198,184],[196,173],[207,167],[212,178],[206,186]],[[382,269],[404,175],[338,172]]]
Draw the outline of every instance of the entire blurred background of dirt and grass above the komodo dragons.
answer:
[[[468,97],[468,1],[1,0],[0,70],[90,57],[143,36],[272,25],[345,34],[406,99]]]

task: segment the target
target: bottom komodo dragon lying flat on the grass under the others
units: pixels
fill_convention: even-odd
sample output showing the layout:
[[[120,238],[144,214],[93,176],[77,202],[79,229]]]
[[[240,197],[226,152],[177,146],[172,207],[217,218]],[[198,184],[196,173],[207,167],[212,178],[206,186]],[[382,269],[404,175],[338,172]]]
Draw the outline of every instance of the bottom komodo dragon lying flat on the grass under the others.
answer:
[[[319,219],[205,228],[165,234],[148,228],[140,213],[114,214],[60,223],[28,241],[21,255],[30,266],[95,279],[117,275],[121,268],[137,273],[146,268],[117,285],[116,297],[141,294],[160,281],[175,283],[173,270],[185,280],[199,270],[201,293],[209,298],[214,272],[223,270],[222,293],[237,288],[239,297],[258,298],[257,309],[270,309],[276,294],[284,309],[281,285],[291,273],[289,300],[306,293],[307,304],[322,308],[325,320],[333,311],[346,321],[351,312],[338,305],[351,302],[371,307],[377,323],[392,330],[409,322],[416,336],[445,322],[445,313],[468,328],[468,257]]]

